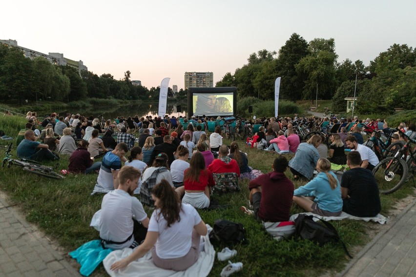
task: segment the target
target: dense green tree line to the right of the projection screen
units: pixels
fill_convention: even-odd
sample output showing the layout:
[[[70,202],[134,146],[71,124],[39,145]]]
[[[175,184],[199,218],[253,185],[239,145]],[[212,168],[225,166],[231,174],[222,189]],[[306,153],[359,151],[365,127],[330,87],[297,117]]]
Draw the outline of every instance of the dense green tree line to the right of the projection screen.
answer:
[[[360,112],[416,108],[416,49],[407,44],[393,44],[365,66],[361,60],[338,62],[332,38],[308,42],[293,33],[278,53],[252,53],[247,64],[228,72],[216,86],[236,86],[239,99],[270,100],[277,77],[282,78],[281,99],[313,100],[317,90],[318,99],[333,99],[333,112],[345,112],[344,98],[354,96],[355,78]]]

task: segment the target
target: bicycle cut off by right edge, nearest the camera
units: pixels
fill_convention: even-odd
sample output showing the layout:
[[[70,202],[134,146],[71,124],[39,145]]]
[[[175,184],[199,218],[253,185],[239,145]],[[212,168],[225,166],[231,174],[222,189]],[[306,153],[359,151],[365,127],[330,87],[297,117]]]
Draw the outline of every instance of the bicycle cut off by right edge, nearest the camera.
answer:
[[[416,143],[416,140],[411,139],[398,128],[396,130],[407,137],[406,144],[395,153],[395,156],[383,159],[373,169],[373,175],[381,194],[395,192],[410,178],[413,179],[413,185],[416,186],[414,179],[416,151],[412,149],[412,143]]]

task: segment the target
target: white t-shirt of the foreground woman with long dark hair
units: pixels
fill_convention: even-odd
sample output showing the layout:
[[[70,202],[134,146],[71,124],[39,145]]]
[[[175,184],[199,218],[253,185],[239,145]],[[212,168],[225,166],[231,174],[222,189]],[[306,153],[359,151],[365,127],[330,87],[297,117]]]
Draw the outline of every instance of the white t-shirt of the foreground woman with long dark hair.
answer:
[[[163,259],[179,258],[187,255],[192,244],[193,227],[201,222],[198,212],[189,204],[182,203],[179,214],[181,220],[166,227],[167,223],[160,209],[153,211],[150,218],[148,232],[158,232],[156,241],[156,254]]]

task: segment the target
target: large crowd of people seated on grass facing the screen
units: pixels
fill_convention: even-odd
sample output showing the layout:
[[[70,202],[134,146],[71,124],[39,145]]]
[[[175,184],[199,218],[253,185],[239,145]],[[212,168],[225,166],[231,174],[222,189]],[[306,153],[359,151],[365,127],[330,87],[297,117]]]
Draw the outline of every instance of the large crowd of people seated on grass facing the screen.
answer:
[[[59,153],[69,157],[70,173],[98,172],[92,194],[106,193],[100,230],[105,247],[135,248],[144,240],[132,255],[114,263],[113,270],[142,257],[153,246],[157,266],[165,268],[168,263],[166,268],[183,270],[193,264],[198,253],[194,248],[199,247],[196,238],[207,232],[195,208],[210,206],[218,174],[233,174],[237,182],[249,179],[247,193],[253,210],[241,210],[259,221],[288,221],[292,202],[325,217],[336,217],[343,211],[374,217],[381,206],[371,170],[379,158],[363,145],[363,135],[392,133],[393,142],[404,141],[380,119],[311,117],[305,124],[320,126],[323,135],[313,135],[307,141],[296,132],[296,117],[256,119],[251,123],[261,126],[254,135],[273,152],[266,155],[276,158],[271,172],[255,175],[250,156],[237,142],[224,145],[220,125],[208,132],[204,123],[215,119],[135,116],[107,120],[102,126],[97,118],[80,114],[60,117],[52,113],[40,122],[31,112],[26,118],[28,122],[17,138],[18,157],[55,160]],[[401,123],[399,128],[415,138],[415,124],[408,125]],[[44,129],[39,131],[41,126]],[[102,158],[101,162],[94,162],[97,158]],[[350,170],[338,179],[331,171],[333,165],[347,165]],[[286,176],[287,168],[292,179],[304,185],[295,189]],[[140,196],[140,201],[134,195]],[[143,205],[155,207],[150,219]],[[178,243],[167,243],[171,236],[178,236]],[[184,259],[183,264],[173,261],[178,258]]]

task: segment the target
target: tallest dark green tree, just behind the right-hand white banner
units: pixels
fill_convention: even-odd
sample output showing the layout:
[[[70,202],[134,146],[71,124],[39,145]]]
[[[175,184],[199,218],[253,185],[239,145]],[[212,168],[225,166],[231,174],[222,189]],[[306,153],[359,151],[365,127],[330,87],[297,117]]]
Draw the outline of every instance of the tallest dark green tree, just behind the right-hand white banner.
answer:
[[[293,33],[280,48],[275,71],[276,78],[282,78],[280,85],[282,99],[299,100],[302,98],[306,74],[296,72],[295,65],[309,53],[308,42],[296,33]]]

